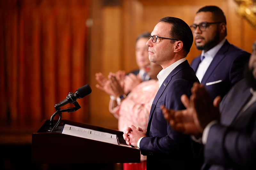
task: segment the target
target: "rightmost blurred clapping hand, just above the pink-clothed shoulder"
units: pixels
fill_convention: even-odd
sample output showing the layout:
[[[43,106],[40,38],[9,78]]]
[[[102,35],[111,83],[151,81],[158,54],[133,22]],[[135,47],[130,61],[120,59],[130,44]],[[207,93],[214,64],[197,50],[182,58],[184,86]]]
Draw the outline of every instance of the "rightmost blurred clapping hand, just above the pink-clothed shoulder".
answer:
[[[125,94],[132,91],[134,87],[140,84],[142,80],[140,79],[139,74],[137,76],[133,73],[130,73],[124,77],[124,92]]]

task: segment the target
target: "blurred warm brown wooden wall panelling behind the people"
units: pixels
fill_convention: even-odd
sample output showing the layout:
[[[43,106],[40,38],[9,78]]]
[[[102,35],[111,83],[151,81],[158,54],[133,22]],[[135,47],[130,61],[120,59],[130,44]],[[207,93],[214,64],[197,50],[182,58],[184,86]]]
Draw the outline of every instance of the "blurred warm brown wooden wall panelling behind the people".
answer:
[[[135,40],[144,31],[151,32],[160,18],[172,16],[183,19],[188,25],[196,11],[205,5],[219,6],[227,18],[227,39],[230,43],[251,52],[256,31],[236,14],[234,0],[93,0],[90,30],[90,115],[89,123],[117,128],[117,120],[108,111],[109,96],[98,90],[95,73],[105,76],[117,70],[136,69]],[[192,45],[188,62],[200,54]]]

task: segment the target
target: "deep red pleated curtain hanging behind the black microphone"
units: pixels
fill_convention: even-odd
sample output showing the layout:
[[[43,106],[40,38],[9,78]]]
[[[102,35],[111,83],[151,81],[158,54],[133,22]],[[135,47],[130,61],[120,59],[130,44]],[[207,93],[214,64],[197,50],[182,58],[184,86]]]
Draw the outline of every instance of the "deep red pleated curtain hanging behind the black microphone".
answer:
[[[0,1],[0,119],[28,126],[88,82],[90,0]],[[88,98],[62,120],[88,121]],[[68,104],[63,108],[74,107]],[[61,107],[62,108],[62,107]],[[55,119],[58,119],[56,116]]]

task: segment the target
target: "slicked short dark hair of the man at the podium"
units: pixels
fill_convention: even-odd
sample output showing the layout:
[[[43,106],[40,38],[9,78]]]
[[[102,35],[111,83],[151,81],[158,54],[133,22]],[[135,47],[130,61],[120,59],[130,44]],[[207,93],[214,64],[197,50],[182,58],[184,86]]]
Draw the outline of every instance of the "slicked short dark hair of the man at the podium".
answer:
[[[159,22],[172,24],[170,31],[171,38],[183,42],[184,54],[187,56],[193,44],[193,33],[188,24],[182,19],[175,17],[164,17]],[[171,40],[171,43],[174,41]]]

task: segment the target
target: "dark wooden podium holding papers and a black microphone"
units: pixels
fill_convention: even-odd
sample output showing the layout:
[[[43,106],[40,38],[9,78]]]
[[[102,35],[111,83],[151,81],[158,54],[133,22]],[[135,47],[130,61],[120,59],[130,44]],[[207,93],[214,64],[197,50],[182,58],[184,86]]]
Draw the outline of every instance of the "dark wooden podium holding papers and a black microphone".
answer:
[[[50,132],[48,131],[50,128],[50,120],[44,120],[32,133],[32,163],[94,164],[140,162],[140,150],[138,148],[61,134],[61,129],[65,123],[116,134],[119,143],[126,145],[123,139],[123,132],[118,130],[62,120],[56,130]]]

